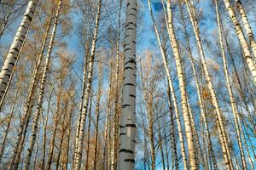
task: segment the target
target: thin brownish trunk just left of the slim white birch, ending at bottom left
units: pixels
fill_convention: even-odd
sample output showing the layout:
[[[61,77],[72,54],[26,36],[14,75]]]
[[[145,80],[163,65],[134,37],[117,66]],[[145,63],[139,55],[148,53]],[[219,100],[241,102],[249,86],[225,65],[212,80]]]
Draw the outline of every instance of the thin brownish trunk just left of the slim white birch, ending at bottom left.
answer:
[[[42,48],[41,48],[40,54],[38,55],[37,63],[35,65],[34,71],[32,73],[32,80],[31,80],[30,88],[29,88],[28,95],[26,98],[26,106],[25,106],[25,110],[24,110],[24,116],[22,117],[21,122],[20,122],[18,137],[15,140],[15,149],[13,150],[13,154],[11,156],[12,159],[11,159],[9,169],[12,169],[13,167],[17,168],[18,164],[20,163],[20,155],[23,150],[23,145],[24,145],[24,142],[26,139],[27,127],[30,122],[30,118],[31,118],[31,114],[32,114],[32,99],[33,99],[33,95],[35,93],[37,82],[38,82],[38,71],[39,71],[39,67],[41,65],[41,61],[43,58],[44,49],[45,49],[45,45],[46,45],[48,34],[49,34],[51,20],[52,20],[52,17],[50,16],[48,25],[46,27]]]

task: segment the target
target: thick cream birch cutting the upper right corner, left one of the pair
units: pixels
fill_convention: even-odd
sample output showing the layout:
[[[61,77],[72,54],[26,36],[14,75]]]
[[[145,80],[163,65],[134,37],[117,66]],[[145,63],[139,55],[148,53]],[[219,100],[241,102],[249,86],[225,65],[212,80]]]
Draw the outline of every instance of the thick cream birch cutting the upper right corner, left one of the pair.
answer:
[[[252,57],[252,54],[251,54],[250,49],[248,47],[247,40],[244,37],[241,26],[240,26],[240,24],[239,24],[239,22],[236,18],[235,11],[234,11],[234,9],[232,8],[232,6],[230,4],[230,0],[224,0],[224,4],[225,4],[225,7],[228,11],[228,14],[230,15],[230,19],[232,20],[233,25],[236,28],[236,34],[237,34],[237,37],[238,37],[238,39],[241,43],[241,47],[242,47],[242,50],[243,50],[243,53],[244,53],[244,58],[247,61],[247,66],[250,69],[250,71],[252,72],[253,80],[254,80],[254,83],[256,84],[256,66],[253,62],[253,57]]]

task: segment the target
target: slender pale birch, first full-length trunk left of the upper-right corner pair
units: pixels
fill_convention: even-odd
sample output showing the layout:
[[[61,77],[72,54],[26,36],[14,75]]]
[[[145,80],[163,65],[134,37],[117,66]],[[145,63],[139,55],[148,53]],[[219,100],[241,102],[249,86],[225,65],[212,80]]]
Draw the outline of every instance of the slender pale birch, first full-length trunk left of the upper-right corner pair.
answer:
[[[240,127],[238,124],[238,116],[239,115],[237,112],[236,103],[235,103],[235,99],[234,99],[231,84],[230,84],[230,76],[229,76],[229,71],[228,71],[227,59],[226,59],[226,55],[224,52],[224,42],[223,42],[223,36],[222,36],[222,31],[221,31],[222,23],[220,20],[220,14],[218,12],[218,0],[215,0],[215,8],[216,8],[217,22],[218,22],[218,38],[219,38],[219,44],[220,44],[220,48],[221,48],[222,60],[223,60],[223,64],[224,64],[224,75],[225,75],[225,79],[226,79],[226,86],[228,88],[228,92],[230,95],[230,105],[231,105],[232,113],[233,113],[234,120],[235,120],[237,142],[238,142],[240,155],[241,155],[241,164],[242,164],[242,169],[247,169],[247,163],[246,163],[246,160],[244,157],[244,152],[243,152],[243,148],[242,148],[242,144],[241,144]]]

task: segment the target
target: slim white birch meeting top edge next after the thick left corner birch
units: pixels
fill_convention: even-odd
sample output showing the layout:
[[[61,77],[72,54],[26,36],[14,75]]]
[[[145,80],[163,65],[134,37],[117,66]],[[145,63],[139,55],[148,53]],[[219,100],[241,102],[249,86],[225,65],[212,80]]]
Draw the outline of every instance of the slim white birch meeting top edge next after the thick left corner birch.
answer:
[[[49,40],[49,48],[48,48],[48,52],[46,55],[46,59],[44,62],[44,71],[43,71],[43,76],[42,76],[42,80],[40,82],[40,90],[39,90],[39,96],[38,96],[38,106],[37,106],[37,110],[34,116],[34,120],[32,123],[32,135],[31,135],[31,139],[30,139],[30,144],[27,150],[27,154],[26,154],[26,162],[25,162],[25,170],[28,170],[30,167],[30,162],[31,162],[31,156],[32,156],[32,150],[34,148],[34,144],[35,144],[35,139],[37,137],[37,132],[38,132],[38,119],[39,119],[39,115],[40,115],[40,110],[42,108],[42,104],[43,104],[43,99],[44,99],[44,88],[45,88],[45,81],[46,81],[46,76],[48,73],[48,69],[49,69],[49,59],[50,59],[50,55],[52,52],[52,48],[54,45],[54,40],[55,40],[55,32],[56,32],[56,27],[58,25],[58,18],[59,18],[59,14],[60,14],[60,10],[61,10],[61,0],[59,0],[59,4],[58,4],[58,8],[56,10],[56,14],[55,14],[55,24],[52,30],[52,34]]]

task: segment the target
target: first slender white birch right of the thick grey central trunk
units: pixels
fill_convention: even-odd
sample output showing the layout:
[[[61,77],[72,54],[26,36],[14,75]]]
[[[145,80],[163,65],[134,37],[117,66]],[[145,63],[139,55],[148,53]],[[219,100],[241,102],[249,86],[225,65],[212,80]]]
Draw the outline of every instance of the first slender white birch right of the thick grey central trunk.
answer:
[[[174,88],[173,88],[171,74],[170,74],[170,71],[169,71],[169,68],[168,68],[168,65],[167,65],[166,53],[165,53],[165,51],[163,49],[163,46],[162,46],[162,44],[160,42],[160,34],[159,34],[159,31],[158,31],[157,26],[156,26],[155,21],[154,21],[154,15],[152,13],[150,1],[148,1],[148,8],[149,8],[149,12],[151,11],[150,15],[151,15],[151,19],[153,20],[154,31],[155,31],[155,34],[156,34],[156,37],[157,37],[157,41],[158,41],[159,46],[160,46],[160,53],[162,55],[163,62],[164,62],[164,65],[165,65],[166,77],[167,77],[167,82],[168,82],[168,88],[170,90],[170,93],[172,94],[174,110],[176,112],[178,135],[179,135],[179,141],[180,141],[181,150],[182,150],[182,157],[183,157],[183,165],[184,165],[183,168],[184,168],[184,170],[187,170],[188,169],[188,164],[187,164],[187,157],[186,157],[185,146],[184,146],[184,142],[183,142],[183,130],[182,130],[182,125],[181,125],[180,117],[179,117],[179,111],[178,111],[178,106],[177,106],[177,99],[176,99],[176,95],[174,93]],[[170,105],[171,105],[171,102],[169,104],[169,107],[170,107]]]

